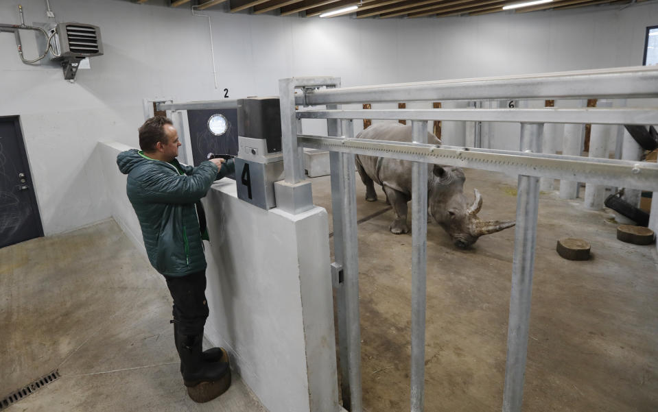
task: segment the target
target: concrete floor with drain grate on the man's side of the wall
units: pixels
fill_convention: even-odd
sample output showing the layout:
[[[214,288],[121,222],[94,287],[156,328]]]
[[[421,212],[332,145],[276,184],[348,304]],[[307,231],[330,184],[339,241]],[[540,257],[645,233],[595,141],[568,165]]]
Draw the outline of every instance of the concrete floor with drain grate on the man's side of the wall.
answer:
[[[8,411],[262,411],[233,374],[196,404],[178,372],[167,286],[114,221],[0,249],[0,400]],[[208,343],[208,342],[206,342]]]

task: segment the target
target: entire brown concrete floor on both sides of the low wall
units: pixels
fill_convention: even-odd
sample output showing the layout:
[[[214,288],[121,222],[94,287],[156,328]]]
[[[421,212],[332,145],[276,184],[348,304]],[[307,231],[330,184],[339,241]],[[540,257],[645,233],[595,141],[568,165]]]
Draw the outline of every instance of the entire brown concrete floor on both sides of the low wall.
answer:
[[[467,171],[473,187],[481,217],[514,218],[515,178]],[[331,213],[329,177],[313,190]],[[357,179],[364,409],[408,411],[411,236],[388,232],[379,189],[377,202],[364,193]],[[524,411],[658,411],[655,245],[617,241],[609,218],[541,195]],[[586,239],[594,258],[560,258],[562,237]],[[425,411],[500,411],[513,238],[458,250],[430,223]],[[264,411],[237,376],[209,404],[185,396],[169,300],[111,221],[0,249],[0,396],[58,368],[9,410]]]

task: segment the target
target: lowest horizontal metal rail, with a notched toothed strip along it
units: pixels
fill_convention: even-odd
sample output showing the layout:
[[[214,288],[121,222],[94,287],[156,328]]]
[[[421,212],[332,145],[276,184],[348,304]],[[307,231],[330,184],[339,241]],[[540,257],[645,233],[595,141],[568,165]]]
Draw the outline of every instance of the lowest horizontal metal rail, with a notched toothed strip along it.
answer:
[[[342,153],[658,191],[656,163],[327,136],[300,135],[299,143]]]

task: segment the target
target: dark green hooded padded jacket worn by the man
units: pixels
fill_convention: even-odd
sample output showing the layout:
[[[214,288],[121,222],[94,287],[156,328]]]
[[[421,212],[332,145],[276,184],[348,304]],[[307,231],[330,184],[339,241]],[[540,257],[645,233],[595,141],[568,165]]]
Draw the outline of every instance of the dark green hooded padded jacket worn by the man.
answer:
[[[207,236],[199,223],[202,220],[205,225],[200,199],[215,180],[235,171],[233,160],[218,171],[213,162],[191,167],[176,159],[154,160],[130,149],[119,153],[117,165],[128,175],[128,199],[139,219],[151,265],[165,276],[206,269],[202,239]]]

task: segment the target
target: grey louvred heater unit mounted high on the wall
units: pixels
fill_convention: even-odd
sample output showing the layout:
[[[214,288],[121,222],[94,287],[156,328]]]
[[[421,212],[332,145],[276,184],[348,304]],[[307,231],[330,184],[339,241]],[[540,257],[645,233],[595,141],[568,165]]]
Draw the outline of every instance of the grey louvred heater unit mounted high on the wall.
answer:
[[[80,61],[91,56],[101,56],[103,45],[97,26],[83,23],[58,23],[54,43],[56,53],[52,60],[62,62],[64,79],[75,79]]]

